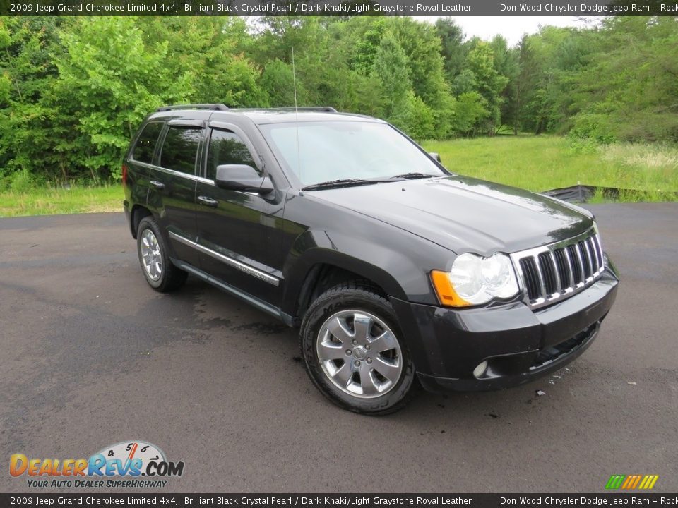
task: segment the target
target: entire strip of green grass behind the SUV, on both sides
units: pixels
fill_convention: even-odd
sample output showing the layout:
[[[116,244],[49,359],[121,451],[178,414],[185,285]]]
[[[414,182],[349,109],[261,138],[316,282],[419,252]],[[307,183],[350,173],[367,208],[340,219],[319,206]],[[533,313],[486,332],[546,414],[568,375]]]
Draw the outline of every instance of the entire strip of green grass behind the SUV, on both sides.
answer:
[[[678,200],[678,147],[669,145],[576,146],[556,136],[498,135],[494,138],[427,141],[459,174],[530,191],[583,185],[631,189],[622,201]],[[0,192],[0,217],[119,212],[121,185],[33,188]],[[602,195],[595,197],[603,200]]]

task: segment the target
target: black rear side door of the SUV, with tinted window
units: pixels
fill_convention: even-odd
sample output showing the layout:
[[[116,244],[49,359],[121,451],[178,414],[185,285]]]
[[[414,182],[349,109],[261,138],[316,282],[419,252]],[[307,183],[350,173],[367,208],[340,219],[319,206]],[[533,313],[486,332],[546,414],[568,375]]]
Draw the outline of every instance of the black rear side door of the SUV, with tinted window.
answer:
[[[196,165],[203,143],[200,120],[170,120],[150,181],[148,204],[160,210],[160,226],[177,258],[198,266],[196,249]]]

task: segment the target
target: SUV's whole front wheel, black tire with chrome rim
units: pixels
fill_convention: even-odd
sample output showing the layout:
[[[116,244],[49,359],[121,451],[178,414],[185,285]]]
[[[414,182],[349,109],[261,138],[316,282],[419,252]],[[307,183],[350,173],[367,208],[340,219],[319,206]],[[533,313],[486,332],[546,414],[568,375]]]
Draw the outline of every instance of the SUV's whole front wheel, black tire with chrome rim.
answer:
[[[391,303],[370,286],[321,294],[304,316],[301,347],[311,380],[338,406],[376,416],[407,403],[415,369]]]

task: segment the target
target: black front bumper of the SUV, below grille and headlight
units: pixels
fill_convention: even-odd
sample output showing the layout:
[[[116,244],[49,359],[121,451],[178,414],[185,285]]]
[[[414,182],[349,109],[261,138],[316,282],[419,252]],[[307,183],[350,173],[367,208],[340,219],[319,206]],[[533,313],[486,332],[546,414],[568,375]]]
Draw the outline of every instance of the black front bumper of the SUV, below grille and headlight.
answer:
[[[391,302],[424,388],[500,389],[546,375],[583,353],[614,303],[617,284],[608,266],[581,293],[537,310],[522,302],[465,310]],[[482,361],[487,370],[475,377]]]

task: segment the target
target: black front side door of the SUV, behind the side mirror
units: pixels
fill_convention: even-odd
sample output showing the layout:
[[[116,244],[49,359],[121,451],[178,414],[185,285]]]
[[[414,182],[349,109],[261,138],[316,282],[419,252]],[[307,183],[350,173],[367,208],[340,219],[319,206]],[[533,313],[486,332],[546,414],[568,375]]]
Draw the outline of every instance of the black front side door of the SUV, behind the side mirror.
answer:
[[[220,164],[263,165],[244,132],[229,123],[208,129],[204,177],[196,191],[196,229],[205,272],[268,303],[277,301],[280,272],[266,265],[267,230],[273,224],[265,196],[227,191],[214,184]]]

